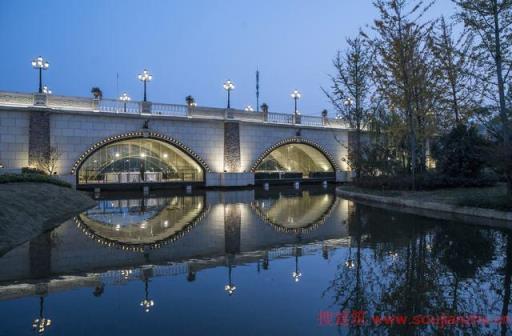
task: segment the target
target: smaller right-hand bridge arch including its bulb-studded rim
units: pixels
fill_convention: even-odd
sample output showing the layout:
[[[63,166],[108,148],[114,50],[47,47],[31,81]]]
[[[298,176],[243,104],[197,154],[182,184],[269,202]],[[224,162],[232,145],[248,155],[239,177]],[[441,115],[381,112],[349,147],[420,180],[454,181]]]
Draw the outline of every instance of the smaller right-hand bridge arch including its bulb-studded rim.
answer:
[[[340,168],[333,156],[320,144],[302,138],[281,140],[267,148],[251,166],[251,172],[297,171],[308,177],[310,173],[335,174]]]

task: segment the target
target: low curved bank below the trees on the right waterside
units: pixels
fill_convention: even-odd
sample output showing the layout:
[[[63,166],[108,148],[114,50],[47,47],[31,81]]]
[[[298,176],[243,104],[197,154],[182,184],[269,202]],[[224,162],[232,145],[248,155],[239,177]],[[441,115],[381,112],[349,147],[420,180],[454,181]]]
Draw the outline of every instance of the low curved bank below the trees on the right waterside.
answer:
[[[338,187],[340,196],[399,208],[444,212],[468,217],[512,221],[504,198],[505,186],[455,188],[435,191],[379,191],[354,186]],[[472,206],[478,205],[478,206]],[[506,211],[504,211],[506,210]],[[425,214],[425,211],[422,212]]]

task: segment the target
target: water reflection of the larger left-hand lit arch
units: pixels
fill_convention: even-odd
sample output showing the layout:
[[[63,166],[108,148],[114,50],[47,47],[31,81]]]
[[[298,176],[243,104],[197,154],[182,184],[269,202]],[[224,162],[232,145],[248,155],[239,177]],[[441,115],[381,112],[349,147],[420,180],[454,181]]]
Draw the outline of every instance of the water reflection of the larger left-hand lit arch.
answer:
[[[143,252],[181,238],[207,211],[204,196],[102,200],[75,221],[100,244]]]

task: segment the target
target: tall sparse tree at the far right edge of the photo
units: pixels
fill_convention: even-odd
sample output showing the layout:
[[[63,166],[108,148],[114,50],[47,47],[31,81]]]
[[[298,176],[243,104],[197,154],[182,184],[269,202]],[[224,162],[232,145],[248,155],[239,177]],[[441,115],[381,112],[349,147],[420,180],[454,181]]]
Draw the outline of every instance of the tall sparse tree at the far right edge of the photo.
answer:
[[[501,122],[501,142],[508,195],[512,197],[512,149],[510,111],[506,86],[512,71],[512,0],[452,0],[458,5],[457,17],[477,37],[481,66],[492,74],[497,114]]]

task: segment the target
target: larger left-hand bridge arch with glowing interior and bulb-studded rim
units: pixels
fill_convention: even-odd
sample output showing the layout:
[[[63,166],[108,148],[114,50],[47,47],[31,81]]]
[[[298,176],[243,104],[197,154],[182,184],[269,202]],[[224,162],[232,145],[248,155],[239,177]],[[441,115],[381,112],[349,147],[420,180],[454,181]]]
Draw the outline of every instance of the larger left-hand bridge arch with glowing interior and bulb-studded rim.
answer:
[[[97,183],[204,182],[210,168],[188,146],[152,131],[103,139],[74,163],[77,185]]]

